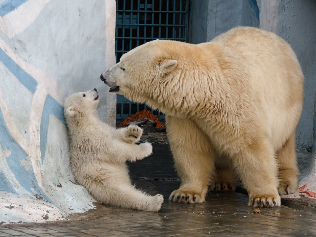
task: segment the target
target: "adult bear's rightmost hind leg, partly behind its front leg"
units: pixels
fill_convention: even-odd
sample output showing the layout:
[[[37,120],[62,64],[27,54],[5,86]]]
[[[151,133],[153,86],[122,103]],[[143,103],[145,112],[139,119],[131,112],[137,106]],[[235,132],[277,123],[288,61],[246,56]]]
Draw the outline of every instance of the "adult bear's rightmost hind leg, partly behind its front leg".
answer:
[[[279,162],[278,177],[280,179],[279,193],[289,194],[298,188],[297,175],[299,170],[296,160],[296,131],[289,137],[283,147],[276,153]]]

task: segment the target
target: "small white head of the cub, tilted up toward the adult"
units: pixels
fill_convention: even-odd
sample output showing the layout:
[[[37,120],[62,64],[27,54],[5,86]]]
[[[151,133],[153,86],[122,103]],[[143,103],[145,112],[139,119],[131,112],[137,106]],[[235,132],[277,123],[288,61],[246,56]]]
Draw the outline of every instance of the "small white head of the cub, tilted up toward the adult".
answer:
[[[64,114],[67,123],[70,119],[79,119],[93,113],[99,101],[98,91],[95,88],[70,95],[64,103]]]

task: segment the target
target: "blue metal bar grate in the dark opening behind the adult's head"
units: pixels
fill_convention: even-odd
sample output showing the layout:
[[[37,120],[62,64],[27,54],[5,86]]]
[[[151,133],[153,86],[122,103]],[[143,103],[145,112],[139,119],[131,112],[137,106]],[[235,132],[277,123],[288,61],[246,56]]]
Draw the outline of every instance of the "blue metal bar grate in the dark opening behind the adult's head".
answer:
[[[116,0],[115,56],[155,39],[186,42],[189,0]],[[147,108],[117,95],[116,119],[124,119]],[[164,118],[160,111],[153,111]]]

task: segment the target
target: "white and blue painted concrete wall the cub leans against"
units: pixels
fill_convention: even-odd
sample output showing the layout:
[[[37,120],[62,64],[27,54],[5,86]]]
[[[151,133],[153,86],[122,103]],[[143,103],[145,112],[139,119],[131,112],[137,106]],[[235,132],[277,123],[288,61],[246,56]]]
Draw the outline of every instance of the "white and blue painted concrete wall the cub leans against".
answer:
[[[63,103],[115,64],[115,1],[0,0],[0,224],[61,220],[93,208],[70,170]]]

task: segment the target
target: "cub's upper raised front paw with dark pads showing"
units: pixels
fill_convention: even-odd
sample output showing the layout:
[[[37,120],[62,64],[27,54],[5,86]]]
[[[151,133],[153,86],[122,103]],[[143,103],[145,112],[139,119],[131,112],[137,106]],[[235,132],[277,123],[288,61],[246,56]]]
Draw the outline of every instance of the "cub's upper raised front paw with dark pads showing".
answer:
[[[143,129],[134,124],[129,125],[127,128],[114,130],[115,138],[130,144],[138,142],[142,134]]]

